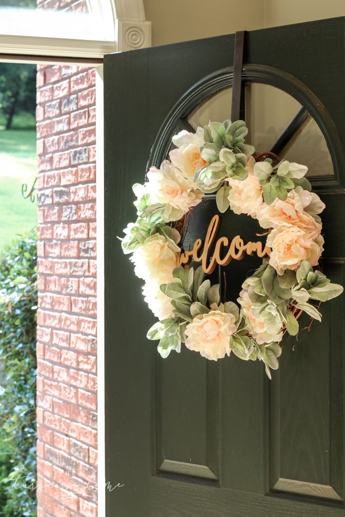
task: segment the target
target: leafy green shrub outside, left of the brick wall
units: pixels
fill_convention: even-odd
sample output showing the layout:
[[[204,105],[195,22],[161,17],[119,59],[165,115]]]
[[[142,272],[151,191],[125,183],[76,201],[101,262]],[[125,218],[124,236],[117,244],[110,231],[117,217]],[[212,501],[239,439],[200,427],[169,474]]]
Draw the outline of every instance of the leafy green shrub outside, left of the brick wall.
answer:
[[[0,257],[0,515],[36,516],[37,236]]]

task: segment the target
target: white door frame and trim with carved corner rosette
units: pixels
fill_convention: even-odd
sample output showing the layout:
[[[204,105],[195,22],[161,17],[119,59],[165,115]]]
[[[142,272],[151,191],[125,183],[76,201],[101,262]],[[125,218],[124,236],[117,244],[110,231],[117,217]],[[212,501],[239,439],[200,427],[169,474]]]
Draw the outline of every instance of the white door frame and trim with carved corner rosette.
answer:
[[[151,22],[143,0],[86,0],[112,25],[113,41],[92,41],[0,34],[0,62],[74,64],[96,68],[97,189],[97,405],[98,515],[106,515],[106,444],[104,419],[104,160],[103,56],[151,46]],[[97,11],[96,11],[97,12]]]

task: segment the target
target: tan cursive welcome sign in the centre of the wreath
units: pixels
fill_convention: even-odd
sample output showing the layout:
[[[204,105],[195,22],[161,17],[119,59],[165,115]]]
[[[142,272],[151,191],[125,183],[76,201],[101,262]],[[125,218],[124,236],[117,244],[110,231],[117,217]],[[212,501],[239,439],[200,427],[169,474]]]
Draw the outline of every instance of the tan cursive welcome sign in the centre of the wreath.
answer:
[[[188,264],[191,260],[201,262],[203,271],[209,275],[215,270],[217,264],[227,266],[232,258],[241,260],[245,254],[252,255],[253,253],[256,253],[259,257],[264,257],[271,252],[271,248],[267,246],[262,249],[263,244],[260,241],[249,241],[245,244],[244,240],[239,235],[236,235],[230,242],[228,237],[220,237],[215,244],[212,256],[210,256],[210,251],[214,246],[218,234],[219,225],[220,217],[218,215],[213,216],[208,225],[205,241],[203,242],[201,239],[197,239],[194,242],[192,250],[181,253],[179,264],[183,266],[184,264]],[[226,248],[229,249],[224,257],[221,258]]]

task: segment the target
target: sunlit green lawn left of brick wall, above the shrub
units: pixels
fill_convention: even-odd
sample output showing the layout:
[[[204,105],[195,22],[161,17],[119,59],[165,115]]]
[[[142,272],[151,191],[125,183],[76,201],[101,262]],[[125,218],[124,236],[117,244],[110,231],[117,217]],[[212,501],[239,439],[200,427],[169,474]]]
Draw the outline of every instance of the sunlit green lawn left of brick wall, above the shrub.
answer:
[[[37,224],[36,200],[22,197],[22,184],[29,190],[36,174],[36,131],[0,130],[0,250]]]

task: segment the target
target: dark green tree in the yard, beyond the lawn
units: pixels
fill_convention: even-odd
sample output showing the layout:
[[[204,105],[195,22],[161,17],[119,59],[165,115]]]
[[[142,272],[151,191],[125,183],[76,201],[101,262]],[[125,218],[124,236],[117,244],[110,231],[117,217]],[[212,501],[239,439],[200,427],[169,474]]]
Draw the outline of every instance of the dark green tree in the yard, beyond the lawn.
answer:
[[[36,66],[0,63],[0,113],[10,129],[13,115],[36,111]]]

